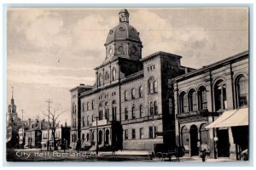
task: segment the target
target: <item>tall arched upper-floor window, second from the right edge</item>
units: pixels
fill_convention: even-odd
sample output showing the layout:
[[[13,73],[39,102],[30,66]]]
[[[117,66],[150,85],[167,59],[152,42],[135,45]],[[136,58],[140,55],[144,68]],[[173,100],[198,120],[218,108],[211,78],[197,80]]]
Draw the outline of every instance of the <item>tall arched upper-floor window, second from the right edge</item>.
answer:
[[[226,85],[223,80],[219,80],[214,87],[215,111],[227,108]]]

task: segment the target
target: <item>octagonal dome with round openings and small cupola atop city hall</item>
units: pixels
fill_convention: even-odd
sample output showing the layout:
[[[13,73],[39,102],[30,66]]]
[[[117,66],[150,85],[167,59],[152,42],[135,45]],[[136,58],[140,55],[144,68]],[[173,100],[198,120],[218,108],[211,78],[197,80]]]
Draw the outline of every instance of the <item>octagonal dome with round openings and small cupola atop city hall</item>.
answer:
[[[118,57],[126,59],[141,59],[142,42],[139,32],[129,24],[129,13],[127,9],[119,11],[119,25],[108,32],[105,42],[107,63]]]

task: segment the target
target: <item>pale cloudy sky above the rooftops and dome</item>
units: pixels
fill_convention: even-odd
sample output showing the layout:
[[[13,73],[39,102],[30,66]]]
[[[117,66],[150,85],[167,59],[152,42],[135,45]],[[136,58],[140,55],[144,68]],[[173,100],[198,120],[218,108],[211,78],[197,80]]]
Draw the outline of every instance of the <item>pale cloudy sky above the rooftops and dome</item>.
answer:
[[[46,118],[50,108],[66,111],[69,89],[93,85],[105,59],[108,31],[121,8],[9,8],[7,15],[7,105],[14,87],[18,115]],[[247,8],[127,8],[140,32],[143,57],[157,51],[183,56],[201,68],[248,49]]]

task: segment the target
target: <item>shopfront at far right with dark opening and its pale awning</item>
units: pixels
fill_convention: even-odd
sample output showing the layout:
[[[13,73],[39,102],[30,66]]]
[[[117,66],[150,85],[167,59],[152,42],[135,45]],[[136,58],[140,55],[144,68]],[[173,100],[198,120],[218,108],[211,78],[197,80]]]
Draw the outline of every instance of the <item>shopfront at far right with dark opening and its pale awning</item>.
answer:
[[[240,160],[241,152],[248,149],[248,108],[224,111],[206,128],[213,128],[216,132],[218,157]]]

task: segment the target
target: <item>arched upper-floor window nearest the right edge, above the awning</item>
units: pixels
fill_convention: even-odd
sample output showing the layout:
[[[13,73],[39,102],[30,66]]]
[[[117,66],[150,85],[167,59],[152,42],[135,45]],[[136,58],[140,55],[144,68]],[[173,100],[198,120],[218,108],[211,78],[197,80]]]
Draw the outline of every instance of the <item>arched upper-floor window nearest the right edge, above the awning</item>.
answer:
[[[248,98],[248,81],[247,78],[242,76],[236,80],[236,94],[237,94],[237,105],[238,107],[247,106]]]

